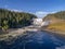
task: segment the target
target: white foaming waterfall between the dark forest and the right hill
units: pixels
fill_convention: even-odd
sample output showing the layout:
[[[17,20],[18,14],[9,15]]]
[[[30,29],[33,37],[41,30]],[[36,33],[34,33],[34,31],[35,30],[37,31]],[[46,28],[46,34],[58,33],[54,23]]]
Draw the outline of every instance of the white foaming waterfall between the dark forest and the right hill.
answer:
[[[36,26],[47,26],[50,24],[49,21],[42,21],[42,19],[34,19],[32,20],[32,25],[36,25]]]

